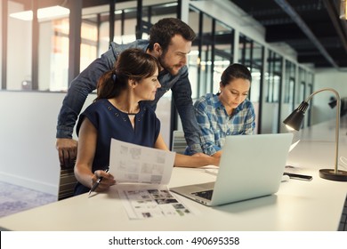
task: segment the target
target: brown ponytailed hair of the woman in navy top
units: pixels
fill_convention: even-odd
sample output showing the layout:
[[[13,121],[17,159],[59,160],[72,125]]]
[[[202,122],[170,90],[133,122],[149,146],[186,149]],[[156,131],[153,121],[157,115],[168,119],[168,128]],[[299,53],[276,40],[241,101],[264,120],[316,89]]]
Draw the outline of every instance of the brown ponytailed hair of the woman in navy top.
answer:
[[[121,52],[112,70],[104,73],[97,85],[97,98],[110,99],[117,97],[128,85],[128,80],[141,81],[152,76],[158,66],[157,59],[137,48]]]

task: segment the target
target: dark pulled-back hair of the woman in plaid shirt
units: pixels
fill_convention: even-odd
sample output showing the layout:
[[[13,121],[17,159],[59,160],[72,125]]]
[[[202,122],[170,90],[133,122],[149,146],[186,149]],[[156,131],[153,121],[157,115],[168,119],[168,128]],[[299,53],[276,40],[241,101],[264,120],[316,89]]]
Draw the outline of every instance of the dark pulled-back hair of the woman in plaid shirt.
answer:
[[[252,82],[251,72],[242,64],[231,64],[222,72],[221,83],[223,86],[230,84],[231,81],[242,78]]]

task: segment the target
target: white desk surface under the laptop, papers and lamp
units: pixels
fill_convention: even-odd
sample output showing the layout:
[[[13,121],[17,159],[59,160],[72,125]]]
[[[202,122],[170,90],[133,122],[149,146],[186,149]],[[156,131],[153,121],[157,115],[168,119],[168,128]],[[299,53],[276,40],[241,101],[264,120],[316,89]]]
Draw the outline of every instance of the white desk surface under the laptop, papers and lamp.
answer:
[[[88,198],[72,197],[0,219],[11,230],[337,230],[347,182],[319,178],[320,168],[334,163],[334,143],[300,142],[288,157],[300,173],[312,181],[282,182],[278,193],[268,197],[218,207],[206,207],[180,197],[196,215],[129,220],[117,186],[109,193]],[[305,151],[305,153],[303,153]],[[344,148],[346,151],[346,148]],[[346,156],[346,155],[344,155]],[[169,187],[213,181],[202,169],[174,168]],[[183,199],[182,199],[183,198]]]

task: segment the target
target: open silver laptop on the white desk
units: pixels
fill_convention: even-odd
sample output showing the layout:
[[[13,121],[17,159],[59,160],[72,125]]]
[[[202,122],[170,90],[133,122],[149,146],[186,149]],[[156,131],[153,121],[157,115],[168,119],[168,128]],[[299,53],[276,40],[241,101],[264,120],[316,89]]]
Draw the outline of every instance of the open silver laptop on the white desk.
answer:
[[[171,188],[204,205],[224,205],[276,193],[292,133],[228,136],[216,181]]]

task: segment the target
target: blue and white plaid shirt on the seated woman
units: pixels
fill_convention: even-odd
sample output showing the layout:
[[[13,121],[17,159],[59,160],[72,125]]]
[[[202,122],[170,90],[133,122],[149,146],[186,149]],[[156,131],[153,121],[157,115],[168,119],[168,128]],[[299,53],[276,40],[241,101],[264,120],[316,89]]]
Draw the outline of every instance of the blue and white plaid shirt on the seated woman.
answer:
[[[214,155],[222,149],[225,137],[230,135],[253,134],[255,112],[250,100],[244,100],[229,116],[218,95],[207,93],[195,104],[195,115],[200,126],[201,147],[205,154]]]

